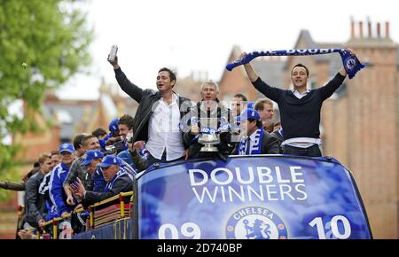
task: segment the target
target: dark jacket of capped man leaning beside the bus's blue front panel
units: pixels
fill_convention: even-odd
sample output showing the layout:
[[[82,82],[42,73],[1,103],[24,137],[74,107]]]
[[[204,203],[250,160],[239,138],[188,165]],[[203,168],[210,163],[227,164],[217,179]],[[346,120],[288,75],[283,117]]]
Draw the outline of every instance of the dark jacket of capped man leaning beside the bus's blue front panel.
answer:
[[[133,181],[127,173],[118,177],[113,183],[113,187],[107,192],[94,192],[86,191],[84,198],[82,199],[82,206],[91,206],[97,202],[105,199],[112,198],[113,196],[121,193],[133,191]],[[129,201],[126,199],[126,201]]]

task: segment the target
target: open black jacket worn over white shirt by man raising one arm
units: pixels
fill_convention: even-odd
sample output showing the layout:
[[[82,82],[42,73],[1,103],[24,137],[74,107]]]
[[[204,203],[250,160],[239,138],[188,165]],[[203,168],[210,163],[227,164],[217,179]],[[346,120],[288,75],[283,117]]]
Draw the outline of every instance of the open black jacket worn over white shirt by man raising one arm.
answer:
[[[148,141],[148,121],[153,114],[153,110],[155,110],[158,105],[160,92],[155,90],[142,90],[129,81],[126,75],[121,71],[121,68],[114,71],[116,81],[121,86],[121,90],[127,93],[129,97],[135,99],[139,104],[133,124],[133,142]],[[188,109],[192,106],[192,101],[186,97],[178,96],[178,105],[180,118],[183,118],[188,112]]]

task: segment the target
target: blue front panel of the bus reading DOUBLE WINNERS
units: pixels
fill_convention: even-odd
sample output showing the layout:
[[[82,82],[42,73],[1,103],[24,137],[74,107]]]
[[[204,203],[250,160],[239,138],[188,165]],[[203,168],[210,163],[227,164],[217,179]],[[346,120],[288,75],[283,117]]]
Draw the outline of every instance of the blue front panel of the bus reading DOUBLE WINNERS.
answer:
[[[337,160],[240,156],[138,178],[138,238],[372,238]]]

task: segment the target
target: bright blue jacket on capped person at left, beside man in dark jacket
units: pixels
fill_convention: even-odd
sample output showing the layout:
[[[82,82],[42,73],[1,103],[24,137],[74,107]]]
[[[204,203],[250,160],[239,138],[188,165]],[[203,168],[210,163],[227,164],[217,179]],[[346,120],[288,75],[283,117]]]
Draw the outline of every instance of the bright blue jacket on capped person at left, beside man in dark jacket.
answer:
[[[66,204],[66,193],[62,184],[66,180],[66,175],[68,174],[69,167],[64,163],[59,163],[54,167],[51,172],[50,179],[50,199],[55,209],[51,211],[52,214],[57,214],[60,216],[64,212],[71,212],[74,210],[74,206],[68,206]]]

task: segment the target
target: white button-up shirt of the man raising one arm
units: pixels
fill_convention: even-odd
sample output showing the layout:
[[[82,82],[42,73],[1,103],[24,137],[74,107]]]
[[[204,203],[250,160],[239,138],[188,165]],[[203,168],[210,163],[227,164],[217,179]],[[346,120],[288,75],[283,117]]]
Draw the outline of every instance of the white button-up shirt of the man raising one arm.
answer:
[[[167,152],[166,160],[176,160],[184,155],[184,145],[179,129],[180,110],[178,97],[172,95],[172,102],[160,98],[148,124],[148,142],[145,148],[153,157],[160,160],[162,153]]]

